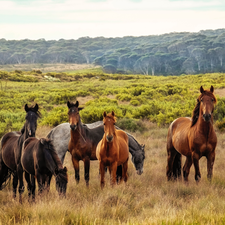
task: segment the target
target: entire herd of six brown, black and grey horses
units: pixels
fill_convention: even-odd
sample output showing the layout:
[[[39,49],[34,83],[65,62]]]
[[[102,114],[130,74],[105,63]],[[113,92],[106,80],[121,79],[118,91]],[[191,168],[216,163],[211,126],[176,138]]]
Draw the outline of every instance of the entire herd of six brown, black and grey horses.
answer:
[[[181,179],[181,155],[186,156],[183,177],[188,181],[192,163],[195,167],[195,180],[201,178],[199,159],[207,158],[207,176],[212,178],[217,137],[213,128],[213,110],[216,97],[214,88],[204,90],[201,86],[200,96],[193,110],[192,118],[180,117],[174,120],[167,135],[168,180]],[[38,192],[49,190],[52,175],[55,176],[56,189],[60,195],[66,194],[68,176],[63,167],[65,154],[71,154],[75,170],[75,180],[79,183],[79,161],[84,162],[84,178],[89,186],[90,160],[99,160],[101,175],[100,186],[104,187],[104,175],[108,168],[111,184],[127,181],[129,152],[138,175],[143,173],[145,146],[129,133],[115,126],[116,117],[112,111],[103,113],[103,121],[83,124],[80,119],[79,102],[67,102],[69,123],[53,128],[46,138],[37,139],[37,119],[41,116],[39,106],[25,105],[26,117],[20,132],[9,132],[0,141],[0,190],[13,176],[13,196],[16,197],[19,183],[19,201],[24,192],[23,176],[27,182],[28,195],[35,199],[36,180]]]

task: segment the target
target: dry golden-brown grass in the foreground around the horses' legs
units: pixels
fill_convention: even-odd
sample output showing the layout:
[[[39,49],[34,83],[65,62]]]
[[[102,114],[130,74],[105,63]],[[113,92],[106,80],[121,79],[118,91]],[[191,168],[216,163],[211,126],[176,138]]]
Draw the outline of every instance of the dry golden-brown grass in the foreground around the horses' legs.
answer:
[[[59,198],[54,180],[51,190],[36,203],[28,203],[27,191],[23,204],[12,199],[11,185],[0,192],[0,224],[224,224],[225,223],[225,134],[217,132],[218,146],[212,183],[206,179],[206,159],[200,160],[202,179],[194,181],[191,168],[189,184],[166,180],[167,127],[147,123],[144,134],[133,133],[146,145],[144,173],[136,174],[129,162],[127,184],[100,189],[98,162],[91,162],[90,187],[86,188],[81,166],[81,181],[76,185],[69,153],[65,165],[69,172],[66,198]],[[44,136],[48,127],[38,129]],[[42,135],[43,134],[43,135]]]

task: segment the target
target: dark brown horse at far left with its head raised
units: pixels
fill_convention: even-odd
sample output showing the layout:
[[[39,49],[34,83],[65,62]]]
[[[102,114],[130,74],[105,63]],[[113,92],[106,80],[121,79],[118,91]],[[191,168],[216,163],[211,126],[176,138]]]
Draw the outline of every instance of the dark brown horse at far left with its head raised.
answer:
[[[20,132],[9,132],[0,141],[0,187],[13,175],[13,197],[16,198],[16,190],[19,180],[19,201],[22,202],[21,194],[24,192],[23,168],[21,165],[22,144],[28,137],[34,137],[37,129],[37,119],[41,116],[38,104],[34,107],[24,107],[26,122]]]

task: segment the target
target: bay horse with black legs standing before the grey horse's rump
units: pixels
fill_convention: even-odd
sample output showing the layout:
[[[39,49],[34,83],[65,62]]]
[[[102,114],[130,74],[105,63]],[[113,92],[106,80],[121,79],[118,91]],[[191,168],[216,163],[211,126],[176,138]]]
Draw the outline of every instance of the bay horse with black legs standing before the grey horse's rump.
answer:
[[[90,160],[97,160],[96,147],[102,136],[98,128],[89,129],[83,126],[80,120],[79,102],[75,104],[67,102],[69,108],[70,140],[68,150],[72,156],[72,162],[75,170],[75,180],[79,183],[79,161],[84,162],[84,178],[86,185],[89,186]]]

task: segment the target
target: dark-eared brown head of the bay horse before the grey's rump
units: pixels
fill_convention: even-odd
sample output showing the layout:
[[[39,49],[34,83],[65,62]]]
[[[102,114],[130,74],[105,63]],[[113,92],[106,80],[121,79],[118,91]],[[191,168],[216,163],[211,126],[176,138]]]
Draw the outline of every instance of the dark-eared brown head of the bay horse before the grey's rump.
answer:
[[[68,115],[69,115],[69,124],[70,124],[70,128],[71,130],[76,130],[77,126],[80,122],[80,114],[79,111],[82,110],[83,108],[79,108],[79,102],[76,101],[76,103],[71,103],[71,102],[67,102],[67,106],[68,106]]]

